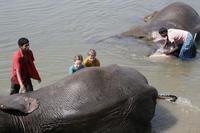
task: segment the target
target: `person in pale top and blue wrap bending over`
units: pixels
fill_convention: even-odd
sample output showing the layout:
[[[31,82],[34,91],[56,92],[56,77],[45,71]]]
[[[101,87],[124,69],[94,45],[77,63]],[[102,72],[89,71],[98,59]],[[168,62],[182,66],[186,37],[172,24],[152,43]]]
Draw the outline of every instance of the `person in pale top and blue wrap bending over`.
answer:
[[[175,55],[182,60],[190,60],[196,56],[196,46],[190,32],[162,27],[159,34],[166,38],[164,48],[170,43],[173,44],[173,49],[164,52],[166,55]]]

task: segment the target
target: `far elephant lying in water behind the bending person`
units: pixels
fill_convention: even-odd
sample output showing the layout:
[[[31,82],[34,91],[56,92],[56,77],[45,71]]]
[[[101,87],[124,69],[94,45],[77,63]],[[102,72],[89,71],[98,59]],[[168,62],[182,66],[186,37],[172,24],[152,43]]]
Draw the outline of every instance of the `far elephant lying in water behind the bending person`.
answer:
[[[173,3],[160,11],[155,11],[146,16],[144,21],[146,24],[133,27],[129,31],[122,33],[122,35],[152,41],[152,32],[158,32],[161,27],[166,27],[187,30],[193,35],[198,33],[196,42],[200,40],[199,14],[187,4],[181,2]]]

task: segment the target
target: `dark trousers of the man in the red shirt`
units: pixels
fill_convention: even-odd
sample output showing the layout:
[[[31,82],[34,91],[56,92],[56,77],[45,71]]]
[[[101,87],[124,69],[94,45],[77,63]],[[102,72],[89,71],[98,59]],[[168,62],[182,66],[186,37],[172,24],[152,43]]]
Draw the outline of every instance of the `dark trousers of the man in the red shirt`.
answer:
[[[27,83],[24,84],[24,86],[25,86],[27,92],[33,91],[33,85],[32,85],[31,79],[29,79],[29,80],[27,81]],[[19,84],[15,84],[15,83],[12,82],[12,80],[11,80],[10,95],[19,93],[19,90],[20,90],[20,85],[19,85]]]

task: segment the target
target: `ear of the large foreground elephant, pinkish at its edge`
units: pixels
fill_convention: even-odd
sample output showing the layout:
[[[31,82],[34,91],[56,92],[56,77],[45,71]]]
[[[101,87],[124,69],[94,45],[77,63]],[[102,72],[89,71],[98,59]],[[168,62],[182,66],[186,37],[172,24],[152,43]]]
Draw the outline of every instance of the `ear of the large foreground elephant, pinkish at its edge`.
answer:
[[[23,95],[11,95],[0,98],[0,109],[9,111],[19,111],[29,114],[39,107],[39,102],[31,97]]]

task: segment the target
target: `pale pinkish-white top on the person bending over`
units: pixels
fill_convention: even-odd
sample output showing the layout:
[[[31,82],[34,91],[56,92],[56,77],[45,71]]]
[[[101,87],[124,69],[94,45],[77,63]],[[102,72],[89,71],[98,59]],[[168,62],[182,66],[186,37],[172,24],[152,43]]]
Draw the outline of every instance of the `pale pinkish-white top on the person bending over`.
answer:
[[[171,43],[183,44],[188,36],[188,31],[180,29],[168,29],[168,40]]]

